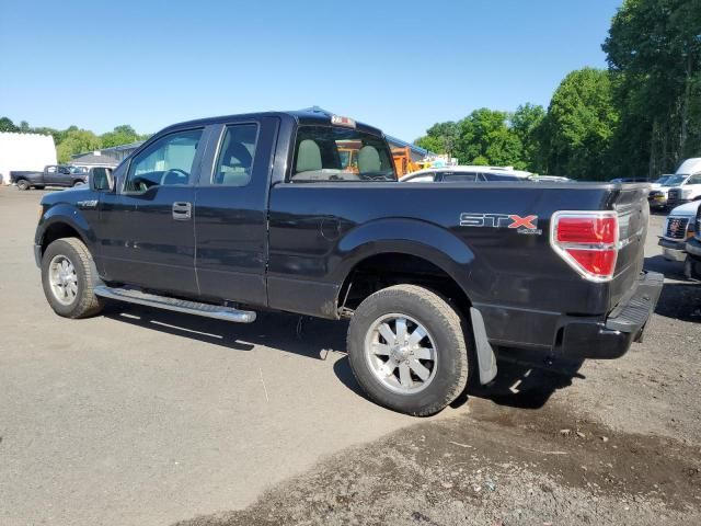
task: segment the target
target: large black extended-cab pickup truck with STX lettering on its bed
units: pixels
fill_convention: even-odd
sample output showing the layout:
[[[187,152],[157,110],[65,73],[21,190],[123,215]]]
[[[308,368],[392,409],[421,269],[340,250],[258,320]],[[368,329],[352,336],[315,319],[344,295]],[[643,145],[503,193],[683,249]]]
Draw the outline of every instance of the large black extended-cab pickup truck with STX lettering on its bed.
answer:
[[[357,150],[344,168],[340,151]],[[60,316],[105,298],[235,322],[349,319],[368,396],[439,411],[495,352],[613,358],[662,289],[647,185],[402,183],[379,129],[318,112],[154,135],[89,187],[44,196],[35,255]]]

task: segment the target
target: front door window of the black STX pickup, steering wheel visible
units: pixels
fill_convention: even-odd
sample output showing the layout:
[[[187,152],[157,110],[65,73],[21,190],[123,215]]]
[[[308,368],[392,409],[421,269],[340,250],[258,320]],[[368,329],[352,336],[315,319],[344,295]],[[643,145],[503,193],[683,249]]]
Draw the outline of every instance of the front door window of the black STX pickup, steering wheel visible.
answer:
[[[153,186],[192,184],[202,133],[202,129],[175,132],[139,152],[131,160],[124,190],[142,193]]]

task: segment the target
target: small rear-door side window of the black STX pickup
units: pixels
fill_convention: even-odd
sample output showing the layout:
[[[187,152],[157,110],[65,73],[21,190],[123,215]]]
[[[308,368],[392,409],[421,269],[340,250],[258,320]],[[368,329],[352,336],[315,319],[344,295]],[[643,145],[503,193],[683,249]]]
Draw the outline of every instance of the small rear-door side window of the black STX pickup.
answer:
[[[219,149],[217,165],[211,178],[212,184],[245,186],[253,173],[257,124],[234,124],[227,126]]]

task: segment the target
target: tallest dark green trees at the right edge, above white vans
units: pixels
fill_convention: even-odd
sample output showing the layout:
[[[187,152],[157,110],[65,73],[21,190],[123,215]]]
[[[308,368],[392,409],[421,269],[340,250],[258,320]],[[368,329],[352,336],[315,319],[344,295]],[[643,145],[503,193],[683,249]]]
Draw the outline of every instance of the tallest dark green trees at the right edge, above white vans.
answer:
[[[625,0],[604,43],[621,125],[621,174],[701,155],[701,0]]]

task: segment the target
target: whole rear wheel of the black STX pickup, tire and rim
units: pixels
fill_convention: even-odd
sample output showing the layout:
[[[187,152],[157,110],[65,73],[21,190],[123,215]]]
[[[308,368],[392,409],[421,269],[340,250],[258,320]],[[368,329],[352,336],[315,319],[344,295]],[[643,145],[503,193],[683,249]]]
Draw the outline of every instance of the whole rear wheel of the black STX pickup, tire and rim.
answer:
[[[467,385],[460,316],[424,287],[397,285],[366,298],[350,320],[347,346],[370,399],[402,413],[437,413]]]

